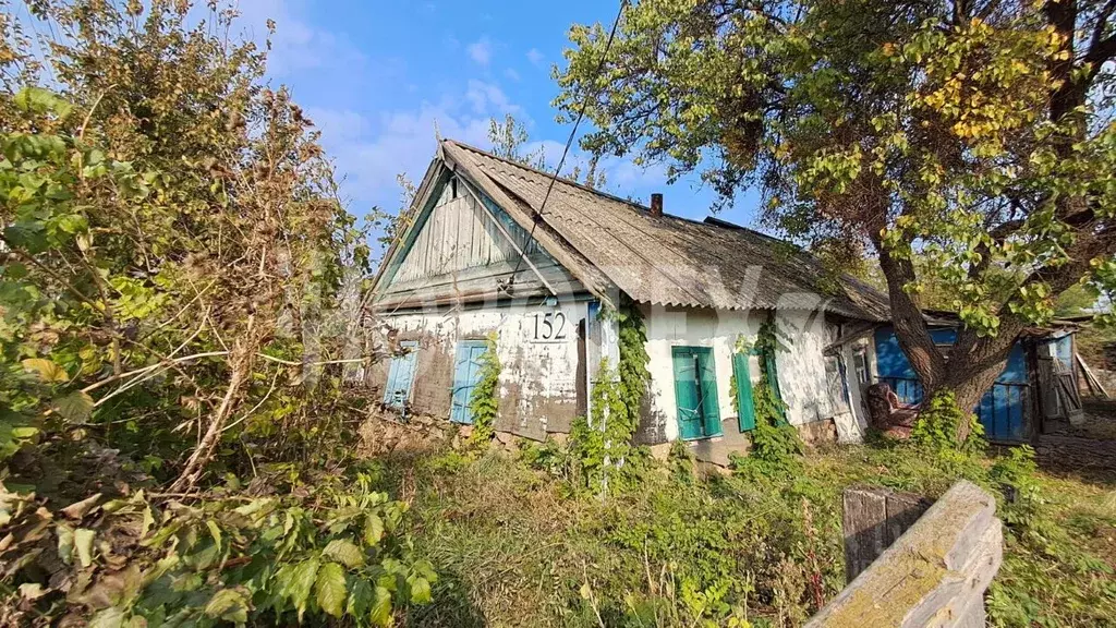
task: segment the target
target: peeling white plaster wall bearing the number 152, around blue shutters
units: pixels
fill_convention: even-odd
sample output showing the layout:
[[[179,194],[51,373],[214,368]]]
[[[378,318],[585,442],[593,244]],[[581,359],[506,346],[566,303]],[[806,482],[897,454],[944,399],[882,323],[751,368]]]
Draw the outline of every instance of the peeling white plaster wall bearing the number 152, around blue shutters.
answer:
[[[536,341],[536,317],[561,312],[562,340]],[[460,340],[497,333],[500,359],[500,416],[496,428],[542,439],[568,432],[585,403],[585,358],[578,349],[587,303],[567,299],[556,306],[487,306],[386,316],[398,340],[420,342],[411,406],[414,412],[449,418],[454,356]],[[541,330],[540,330],[541,332]],[[381,378],[386,377],[382,375]],[[581,380],[581,381],[578,381]]]

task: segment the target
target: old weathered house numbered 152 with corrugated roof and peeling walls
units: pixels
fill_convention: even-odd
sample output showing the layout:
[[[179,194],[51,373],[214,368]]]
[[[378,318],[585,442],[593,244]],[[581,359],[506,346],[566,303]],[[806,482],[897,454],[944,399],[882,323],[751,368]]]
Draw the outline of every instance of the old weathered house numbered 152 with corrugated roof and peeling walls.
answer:
[[[651,372],[641,441],[681,438],[714,462],[747,448],[751,386],[733,382],[759,377],[761,356],[739,349],[767,321],[787,419],[807,436],[843,439],[866,422],[860,387],[849,382],[869,377],[870,330],[888,318],[886,297],[827,275],[791,245],[671,216],[657,194],[643,207],[551,182],[450,140],[401,231],[374,285],[396,354],[367,378],[386,406],[471,422],[492,336],[502,364],[496,428],[532,439],[568,432],[589,411],[602,361],[618,360],[607,313],[632,303]]]

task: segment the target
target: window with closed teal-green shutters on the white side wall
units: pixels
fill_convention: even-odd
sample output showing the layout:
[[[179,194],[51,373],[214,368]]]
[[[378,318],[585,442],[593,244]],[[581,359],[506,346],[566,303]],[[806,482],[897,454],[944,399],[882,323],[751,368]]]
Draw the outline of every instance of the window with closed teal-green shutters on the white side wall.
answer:
[[[713,350],[708,346],[675,346],[671,350],[671,358],[682,438],[694,440],[721,436]]]

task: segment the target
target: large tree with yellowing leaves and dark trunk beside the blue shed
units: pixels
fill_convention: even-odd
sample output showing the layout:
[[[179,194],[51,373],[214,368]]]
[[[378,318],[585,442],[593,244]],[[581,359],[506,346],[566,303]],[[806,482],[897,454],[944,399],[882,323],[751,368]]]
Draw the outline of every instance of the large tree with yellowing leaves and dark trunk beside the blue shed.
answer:
[[[575,26],[556,105],[584,148],[745,187],[793,238],[870,248],[929,396],[973,407],[1018,333],[1086,283],[1116,287],[1113,0],[691,0]],[[914,264],[920,257],[925,264]],[[1011,289],[999,282],[1013,277]],[[918,293],[964,323],[944,353]]]

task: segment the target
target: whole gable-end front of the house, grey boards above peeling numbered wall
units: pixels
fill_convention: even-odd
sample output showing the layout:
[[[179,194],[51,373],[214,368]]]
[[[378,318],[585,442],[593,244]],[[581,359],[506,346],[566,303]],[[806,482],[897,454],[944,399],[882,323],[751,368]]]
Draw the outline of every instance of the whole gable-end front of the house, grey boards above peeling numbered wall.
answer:
[[[470,394],[494,334],[497,429],[535,439],[568,432],[586,412],[602,346],[613,339],[615,349],[598,313],[617,293],[551,229],[533,226],[522,202],[445,148],[373,287],[373,308],[400,355],[366,378],[389,408],[471,424]]]

